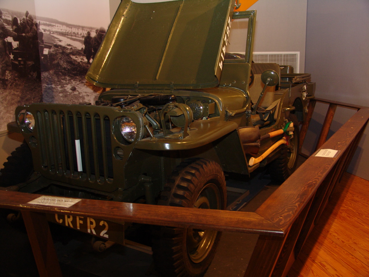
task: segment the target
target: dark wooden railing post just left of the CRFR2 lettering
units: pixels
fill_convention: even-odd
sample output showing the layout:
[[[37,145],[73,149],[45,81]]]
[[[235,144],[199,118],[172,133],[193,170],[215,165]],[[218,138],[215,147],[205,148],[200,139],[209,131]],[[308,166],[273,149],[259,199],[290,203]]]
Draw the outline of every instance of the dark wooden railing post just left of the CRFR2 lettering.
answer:
[[[22,211],[22,216],[40,277],[62,277],[45,214]]]

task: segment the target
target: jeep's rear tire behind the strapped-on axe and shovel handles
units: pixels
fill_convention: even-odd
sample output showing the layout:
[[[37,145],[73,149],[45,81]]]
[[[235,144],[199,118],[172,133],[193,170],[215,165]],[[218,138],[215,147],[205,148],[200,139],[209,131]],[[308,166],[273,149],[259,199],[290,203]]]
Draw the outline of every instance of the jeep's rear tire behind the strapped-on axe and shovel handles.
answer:
[[[284,182],[296,170],[297,157],[299,155],[300,130],[299,122],[294,114],[290,114],[289,121],[293,122],[293,137],[289,145],[282,145],[282,153],[269,165],[270,178],[276,182]]]

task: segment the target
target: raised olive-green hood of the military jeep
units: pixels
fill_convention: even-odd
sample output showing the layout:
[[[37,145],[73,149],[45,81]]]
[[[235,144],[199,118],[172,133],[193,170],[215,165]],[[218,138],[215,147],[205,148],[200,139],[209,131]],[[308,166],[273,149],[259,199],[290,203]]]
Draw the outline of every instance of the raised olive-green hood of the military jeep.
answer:
[[[105,88],[219,83],[234,0],[121,1],[86,79]]]

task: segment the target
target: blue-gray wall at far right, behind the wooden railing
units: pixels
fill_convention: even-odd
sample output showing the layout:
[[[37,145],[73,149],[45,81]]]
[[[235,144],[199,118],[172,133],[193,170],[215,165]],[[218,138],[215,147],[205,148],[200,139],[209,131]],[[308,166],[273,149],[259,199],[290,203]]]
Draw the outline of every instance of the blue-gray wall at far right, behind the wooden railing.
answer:
[[[305,71],[317,83],[315,96],[369,106],[369,1],[308,0],[306,30]],[[327,106],[317,105],[306,140],[316,139],[326,110]],[[331,133],[352,114],[337,109]],[[368,132],[369,128],[348,169],[365,179],[369,179]]]

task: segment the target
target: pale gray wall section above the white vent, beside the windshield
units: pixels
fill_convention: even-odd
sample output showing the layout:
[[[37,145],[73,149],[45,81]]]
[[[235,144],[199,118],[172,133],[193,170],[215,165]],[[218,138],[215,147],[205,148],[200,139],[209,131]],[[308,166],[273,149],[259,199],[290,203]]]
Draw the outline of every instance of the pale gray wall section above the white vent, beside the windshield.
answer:
[[[300,51],[300,73],[305,72],[307,0],[259,0],[254,52]]]

